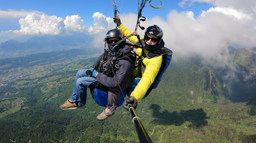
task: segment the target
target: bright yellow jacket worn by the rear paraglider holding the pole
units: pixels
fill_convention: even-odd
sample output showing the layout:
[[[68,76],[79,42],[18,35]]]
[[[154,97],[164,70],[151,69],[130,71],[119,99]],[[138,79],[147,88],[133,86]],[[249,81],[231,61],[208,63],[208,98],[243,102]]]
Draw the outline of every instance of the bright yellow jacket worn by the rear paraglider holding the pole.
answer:
[[[132,34],[123,24],[121,24],[119,26],[119,30],[125,36],[129,36]],[[131,36],[130,38],[128,38],[128,40],[134,44],[139,41],[136,36]],[[141,55],[142,49],[137,48],[135,50],[135,52],[136,52],[136,54]],[[148,51],[144,50],[144,53],[147,54]],[[141,77],[138,85],[136,86],[136,88],[134,89],[134,91],[131,94],[131,96],[134,96],[138,102],[144,97],[147,90],[151,87],[152,83],[155,81],[155,78],[160,70],[161,65],[162,65],[162,60],[163,60],[162,55],[159,55],[156,58],[148,59],[147,57],[145,57],[142,59],[142,62],[145,65],[145,70],[143,70],[144,67],[142,66],[141,67],[142,77]],[[137,68],[134,69],[132,71],[132,74],[135,75],[137,70],[138,70]]]

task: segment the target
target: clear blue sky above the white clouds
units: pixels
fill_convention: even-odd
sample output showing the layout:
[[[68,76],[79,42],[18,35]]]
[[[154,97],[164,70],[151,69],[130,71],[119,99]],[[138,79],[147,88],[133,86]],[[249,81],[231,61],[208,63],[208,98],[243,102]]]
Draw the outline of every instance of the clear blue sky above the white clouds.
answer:
[[[0,10],[2,11],[38,11],[45,13],[47,15],[55,15],[57,17],[61,17],[63,19],[66,16],[71,15],[79,15],[83,21],[85,26],[90,26],[94,23],[94,19],[92,15],[95,12],[100,12],[104,14],[106,17],[113,17],[113,8],[111,0],[99,0],[99,1],[33,1],[33,0],[9,0],[4,1],[1,0]],[[166,20],[166,15],[172,10],[181,11],[193,11],[195,17],[201,14],[204,10],[208,10],[212,5],[207,3],[198,3],[196,2],[191,6],[180,7],[180,0],[162,0],[162,8],[154,9],[150,6],[149,1],[147,1],[142,15],[151,18],[153,16],[160,16]],[[138,1],[133,0],[119,0],[117,1],[118,10],[120,13],[137,13],[138,12]],[[159,0],[153,0],[152,5],[159,6]],[[19,19],[0,19],[0,31],[8,31],[8,30],[18,30],[19,29]],[[9,22],[7,22],[9,21]]]

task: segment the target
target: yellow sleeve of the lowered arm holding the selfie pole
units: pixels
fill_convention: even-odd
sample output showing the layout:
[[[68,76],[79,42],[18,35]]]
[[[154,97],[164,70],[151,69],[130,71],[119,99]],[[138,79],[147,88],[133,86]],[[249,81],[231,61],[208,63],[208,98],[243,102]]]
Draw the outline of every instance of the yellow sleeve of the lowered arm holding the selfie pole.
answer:
[[[138,85],[131,94],[131,96],[134,96],[138,102],[144,97],[147,90],[151,87],[152,83],[154,82],[162,65],[162,58],[162,55],[160,55],[152,59],[143,59],[142,62],[146,66],[146,69],[142,73],[142,77]]]

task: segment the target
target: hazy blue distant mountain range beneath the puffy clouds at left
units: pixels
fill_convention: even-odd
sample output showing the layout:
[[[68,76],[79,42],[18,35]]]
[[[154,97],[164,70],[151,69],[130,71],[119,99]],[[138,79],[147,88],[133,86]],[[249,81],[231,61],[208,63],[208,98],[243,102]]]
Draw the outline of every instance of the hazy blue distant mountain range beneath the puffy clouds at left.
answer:
[[[83,34],[66,36],[35,36],[25,42],[9,40],[0,44],[0,57],[12,58],[32,53],[62,50],[67,47],[86,46],[92,37]]]

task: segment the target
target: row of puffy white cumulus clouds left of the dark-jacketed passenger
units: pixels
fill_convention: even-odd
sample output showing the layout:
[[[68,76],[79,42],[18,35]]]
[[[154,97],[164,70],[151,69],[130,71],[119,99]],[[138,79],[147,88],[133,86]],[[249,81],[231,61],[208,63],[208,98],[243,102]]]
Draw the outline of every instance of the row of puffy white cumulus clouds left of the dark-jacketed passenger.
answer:
[[[19,19],[20,30],[13,31],[15,34],[36,35],[49,34],[58,35],[63,33],[91,33],[97,34],[109,30],[110,25],[114,25],[113,19],[105,17],[102,13],[96,12],[93,15],[94,27],[89,29],[83,25],[83,20],[79,15],[67,16],[65,20],[57,16],[36,13],[28,14],[25,18]]]

